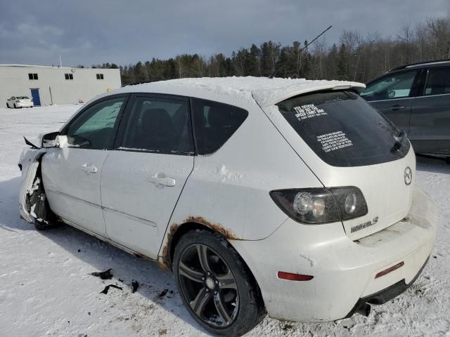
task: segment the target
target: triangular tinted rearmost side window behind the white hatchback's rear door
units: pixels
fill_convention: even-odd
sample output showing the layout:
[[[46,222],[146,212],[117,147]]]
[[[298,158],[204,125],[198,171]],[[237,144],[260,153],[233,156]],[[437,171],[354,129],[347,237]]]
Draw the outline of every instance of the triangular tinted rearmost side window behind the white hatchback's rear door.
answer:
[[[212,100],[193,98],[192,106],[198,154],[219,150],[248,117],[247,110]]]

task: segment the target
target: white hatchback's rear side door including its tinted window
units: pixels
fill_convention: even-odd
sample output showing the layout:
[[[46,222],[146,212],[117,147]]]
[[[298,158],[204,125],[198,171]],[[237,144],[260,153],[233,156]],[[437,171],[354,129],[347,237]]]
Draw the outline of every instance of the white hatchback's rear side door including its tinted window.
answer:
[[[103,214],[111,240],[157,258],[193,170],[193,154],[187,98],[132,96],[102,172]]]

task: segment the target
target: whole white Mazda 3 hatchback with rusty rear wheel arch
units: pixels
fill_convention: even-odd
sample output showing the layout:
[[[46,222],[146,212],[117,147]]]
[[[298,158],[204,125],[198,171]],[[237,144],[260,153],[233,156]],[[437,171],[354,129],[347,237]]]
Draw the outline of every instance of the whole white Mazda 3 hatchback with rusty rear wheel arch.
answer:
[[[437,209],[415,187],[405,133],[362,88],[253,77],[126,86],[24,150],[20,214],[171,268],[210,333],[241,335],[266,312],[368,315],[420,274]]]

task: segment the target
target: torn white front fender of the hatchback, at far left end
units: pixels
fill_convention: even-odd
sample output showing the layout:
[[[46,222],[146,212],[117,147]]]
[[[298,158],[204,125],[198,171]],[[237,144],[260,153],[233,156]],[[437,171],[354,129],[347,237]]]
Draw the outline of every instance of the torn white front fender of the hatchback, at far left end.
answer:
[[[46,153],[46,149],[24,149],[20,154],[18,162],[22,168],[22,183],[19,192],[19,212],[20,217],[28,223],[34,223],[30,210],[27,209],[26,197],[33,188],[34,178],[36,178],[37,170],[41,164],[41,157]]]

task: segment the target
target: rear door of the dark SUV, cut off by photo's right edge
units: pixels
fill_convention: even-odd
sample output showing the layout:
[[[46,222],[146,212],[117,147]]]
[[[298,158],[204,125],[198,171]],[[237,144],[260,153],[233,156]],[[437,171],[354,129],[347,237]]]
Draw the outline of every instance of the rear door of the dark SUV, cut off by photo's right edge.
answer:
[[[409,138],[416,152],[450,155],[450,67],[428,69],[414,100]]]

